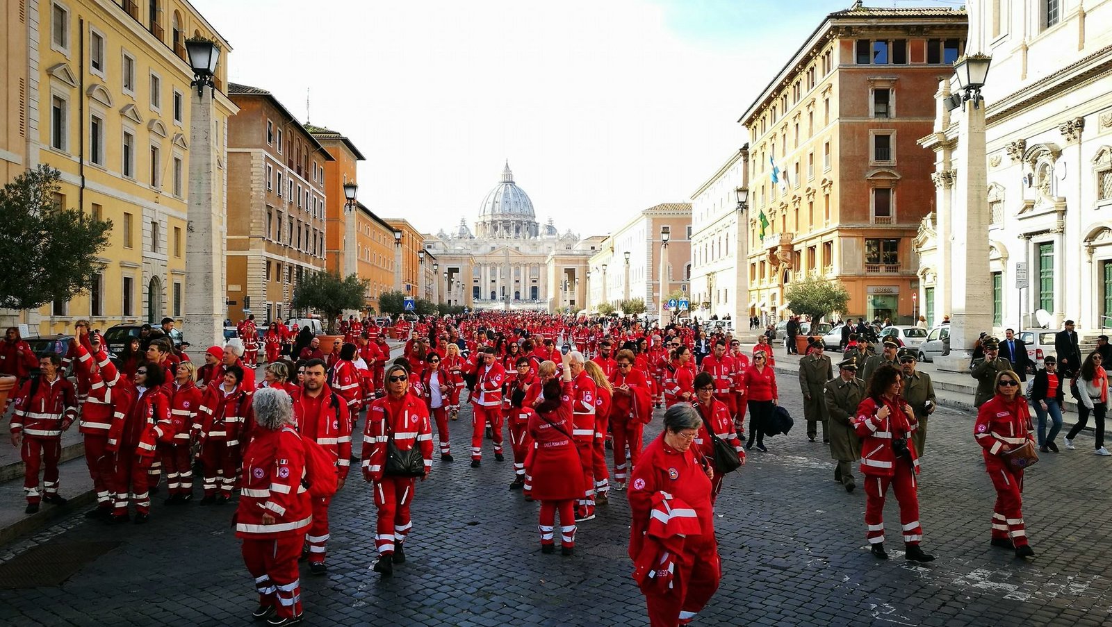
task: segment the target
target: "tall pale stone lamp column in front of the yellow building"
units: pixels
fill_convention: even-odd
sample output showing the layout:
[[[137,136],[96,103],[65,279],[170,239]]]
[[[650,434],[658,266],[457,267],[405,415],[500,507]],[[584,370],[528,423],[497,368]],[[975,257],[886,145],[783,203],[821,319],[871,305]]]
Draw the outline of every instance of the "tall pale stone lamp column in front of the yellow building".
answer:
[[[186,302],[182,332],[203,350],[224,344],[228,293],[224,190],[217,180],[212,88],[190,89],[189,207],[186,228]],[[139,286],[137,289],[142,289]]]

